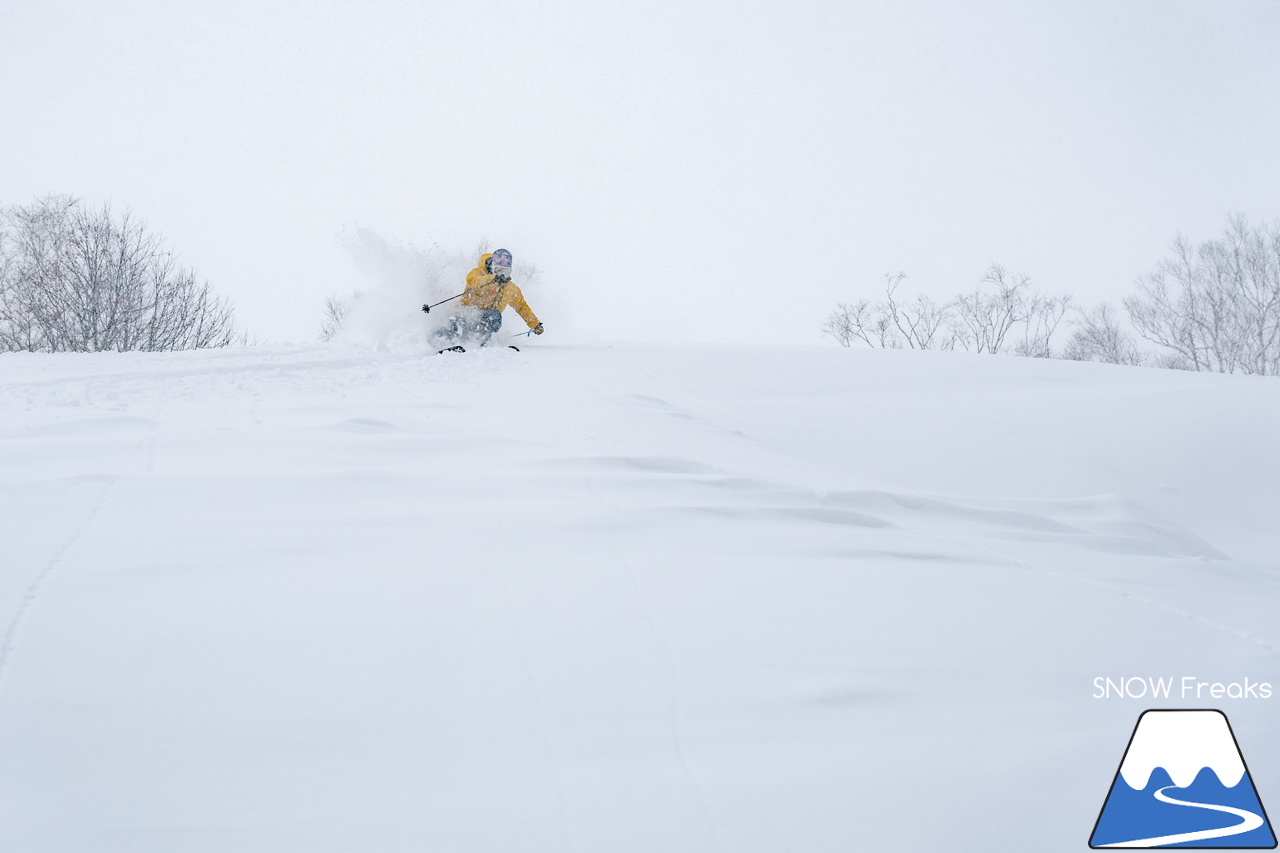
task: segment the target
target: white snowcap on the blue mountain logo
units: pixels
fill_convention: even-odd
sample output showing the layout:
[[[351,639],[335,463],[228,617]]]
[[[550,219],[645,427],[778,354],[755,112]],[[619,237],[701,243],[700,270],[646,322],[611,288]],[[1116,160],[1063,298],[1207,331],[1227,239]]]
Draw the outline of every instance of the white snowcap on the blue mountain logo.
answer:
[[[1179,788],[1196,781],[1204,767],[1228,788],[1235,788],[1244,777],[1244,760],[1226,717],[1219,711],[1144,713],[1120,765],[1120,775],[1130,788],[1143,790],[1156,767],[1169,771]]]

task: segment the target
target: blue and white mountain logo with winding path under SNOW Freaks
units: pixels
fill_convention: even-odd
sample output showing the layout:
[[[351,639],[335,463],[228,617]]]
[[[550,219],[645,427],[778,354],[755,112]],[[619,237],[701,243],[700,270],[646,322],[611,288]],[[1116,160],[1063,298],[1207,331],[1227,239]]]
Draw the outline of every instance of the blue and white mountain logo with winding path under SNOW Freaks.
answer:
[[[1275,848],[1226,715],[1143,711],[1089,847]]]

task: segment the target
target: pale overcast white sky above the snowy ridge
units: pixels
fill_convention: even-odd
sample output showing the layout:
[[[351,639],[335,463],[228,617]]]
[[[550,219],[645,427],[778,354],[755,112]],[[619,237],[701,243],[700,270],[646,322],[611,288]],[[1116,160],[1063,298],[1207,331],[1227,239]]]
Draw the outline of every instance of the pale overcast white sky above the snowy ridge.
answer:
[[[129,207],[262,339],[369,227],[538,263],[550,330],[817,342],[886,272],[1117,298],[1280,216],[1277,45],[1270,1],[4,0],[0,204]]]

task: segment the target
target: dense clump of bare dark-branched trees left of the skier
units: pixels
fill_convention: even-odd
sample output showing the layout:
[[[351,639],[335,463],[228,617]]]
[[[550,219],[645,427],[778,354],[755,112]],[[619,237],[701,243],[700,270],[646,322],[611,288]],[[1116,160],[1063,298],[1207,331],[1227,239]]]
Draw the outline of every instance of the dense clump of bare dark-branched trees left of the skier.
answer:
[[[236,338],[232,310],[128,213],[50,196],[0,211],[0,350],[196,350]]]

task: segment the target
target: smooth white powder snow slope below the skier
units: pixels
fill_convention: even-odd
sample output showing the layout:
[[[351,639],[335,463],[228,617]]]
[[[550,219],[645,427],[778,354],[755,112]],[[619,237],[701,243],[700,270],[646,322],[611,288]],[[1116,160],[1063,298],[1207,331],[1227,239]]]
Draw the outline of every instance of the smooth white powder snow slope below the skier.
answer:
[[[1277,423],[965,353],[0,355],[3,847],[1083,849],[1147,707],[1094,678],[1280,684]],[[1217,703],[1263,799],[1275,702]]]

